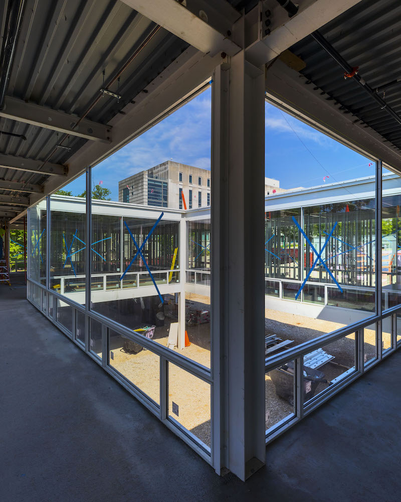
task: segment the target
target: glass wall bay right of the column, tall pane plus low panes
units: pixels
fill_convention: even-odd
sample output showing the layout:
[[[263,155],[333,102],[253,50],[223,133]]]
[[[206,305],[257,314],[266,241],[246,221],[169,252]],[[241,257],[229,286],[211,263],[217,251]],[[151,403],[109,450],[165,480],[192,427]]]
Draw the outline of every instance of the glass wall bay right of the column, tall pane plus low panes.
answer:
[[[375,169],[368,159],[270,104],[266,126],[268,360],[375,314],[376,200]],[[288,147],[286,158],[280,157],[281,142]],[[316,151],[324,162],[311,153]],[[331,156],[340,155],[350,159],[349,166],[326,168]],[[355,371],[355,344],[352,333],[305,354],[305,403]],[[375,329],[364,330],[364,353],[365,363],[377,357]],[[265,375],[267,430],[294,416],[295,366],[288,361]]]

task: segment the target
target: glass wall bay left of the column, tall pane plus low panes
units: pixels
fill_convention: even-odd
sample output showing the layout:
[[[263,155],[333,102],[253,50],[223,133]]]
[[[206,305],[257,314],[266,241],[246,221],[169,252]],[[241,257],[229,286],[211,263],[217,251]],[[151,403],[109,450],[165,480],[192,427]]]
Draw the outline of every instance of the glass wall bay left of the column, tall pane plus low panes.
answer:
[[[185,131],[191,149],[183,149],[176,141],[178,129]],[[166,373],[160,374],[160,353],[164,353],[160,350],[178,355],[185,364],[205,366],[201,371],[209,372],[210,208],[206,208],[206,194],[196,204],[204,204],[208,216],[193,230],[190,265],[186,219],[191,177],[198,181],[202,170],[204,184],[211,179],[210,129],[211,87],[207,84],[203,93],[125,147],[131,152],[129,166],[118,162],[117,153],[116,163],[110,158],[112,164],[107,161],[92,168],[90,252],[90,311],[113,323],[113,329],[107,328],[106,354],[92,341],[90,327],[90,350],[93,345],[94,355],[103,355],[107,367],[134,386],[151,406],[164,406],[160,382],[166,378],[167,420],[185,429],[206,452],[210,451],[211,385],[179,367],[176,359],[173,364],[168,356]],[[138,149],[140,158],[146,157],[145,165],[137,164]],[[197,191],[195,200],[199,199]],[[122,203],[118,208],[117,200]],[[195,269],[193,282],[187,284],[188,271]],[[192,406],[193,400],[202,407],[202,417]]]

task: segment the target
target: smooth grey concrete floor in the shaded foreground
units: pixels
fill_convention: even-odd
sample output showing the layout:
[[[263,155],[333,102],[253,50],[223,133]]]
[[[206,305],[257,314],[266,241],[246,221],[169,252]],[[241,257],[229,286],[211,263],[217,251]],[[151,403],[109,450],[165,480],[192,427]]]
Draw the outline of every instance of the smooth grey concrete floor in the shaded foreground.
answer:
[[[393,501],[401,352],[293,427],[246,483],[218,477],[32,305],[0,286],[0,499]]]

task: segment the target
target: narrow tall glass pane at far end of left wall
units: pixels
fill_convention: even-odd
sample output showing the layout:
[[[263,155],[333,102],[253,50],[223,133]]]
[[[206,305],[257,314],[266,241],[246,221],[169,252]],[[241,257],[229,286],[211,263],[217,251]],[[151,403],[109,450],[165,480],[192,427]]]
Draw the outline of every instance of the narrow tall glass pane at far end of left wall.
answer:
[[[31,207],[29,211],[30,229],[28,235],[31,239],[31,252],[28,257],[30,262],[29,277],[46,286],[46,199]],[[19,252],[21,250],[24,252],[24,247],[19,246]]]

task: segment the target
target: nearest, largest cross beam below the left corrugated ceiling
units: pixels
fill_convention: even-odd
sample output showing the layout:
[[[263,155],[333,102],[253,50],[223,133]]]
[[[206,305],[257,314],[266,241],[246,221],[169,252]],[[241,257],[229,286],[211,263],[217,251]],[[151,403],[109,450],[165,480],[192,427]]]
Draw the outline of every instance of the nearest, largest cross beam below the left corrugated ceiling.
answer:
[[[6,96],[4,108],[0,110],[0,117],[10,118],[11,120],[51,129],[71,136],[78,136],[86,140],[102,143],[111,142],[111,126],[105,126],[87,118],[82,119],[76,126],[80,120],[77,115],[53,110],[48,106],[41,106],[32,102],[27,103],[23,99],[12,96]]]

